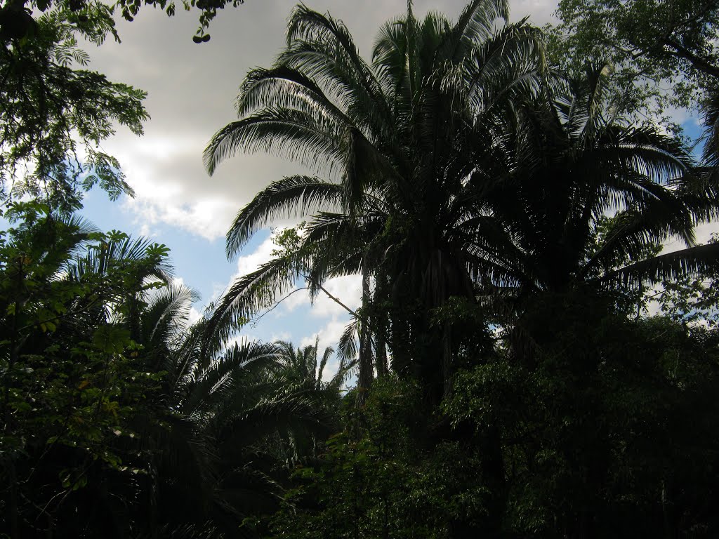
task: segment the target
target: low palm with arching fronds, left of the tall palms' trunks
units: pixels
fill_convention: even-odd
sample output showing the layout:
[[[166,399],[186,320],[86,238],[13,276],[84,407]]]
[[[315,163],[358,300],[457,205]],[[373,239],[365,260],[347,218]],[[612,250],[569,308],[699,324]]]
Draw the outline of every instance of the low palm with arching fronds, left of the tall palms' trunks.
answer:
[[[146,357],[166,373],[163,400],[142,426],[152,457],[149,507],[172,529],[192,515],[197,529],[214,522],[229,532],[277,507],[283,470],[335,428],[334,410],[329,390],[290,383],[281,347],[228,342],[237,326],[229,317],[218,323],[212,306],[188,324],[193,299],[183,285],[162,289],[142,320]]]

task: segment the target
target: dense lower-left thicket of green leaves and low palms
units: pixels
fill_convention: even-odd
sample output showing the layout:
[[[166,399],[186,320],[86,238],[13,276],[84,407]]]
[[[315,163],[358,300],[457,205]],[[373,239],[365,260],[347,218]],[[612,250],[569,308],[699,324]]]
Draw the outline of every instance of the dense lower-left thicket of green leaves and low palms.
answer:
[[[338,384],[298,379],[281,347],[229,343],[209,313],[190,323],[196,295],[173,284],[164,246],[37,203],[11,215],[1,529],[199,534],[271,509],[273,475],[334,428]]]

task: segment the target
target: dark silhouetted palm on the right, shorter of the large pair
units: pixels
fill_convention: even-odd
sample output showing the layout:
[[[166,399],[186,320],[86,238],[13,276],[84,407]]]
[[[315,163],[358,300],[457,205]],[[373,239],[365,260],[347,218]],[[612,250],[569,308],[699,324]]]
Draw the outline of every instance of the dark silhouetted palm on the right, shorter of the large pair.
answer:
[[[478,155],[482,206],[463,226],[491,295],[617,292],[716,261],[715,247],[694,246],[694,226],[719,213],[716,183],[677,139],[616,117],[607,76],[515,101]],[[671,237],[687,249],[654,256]]]

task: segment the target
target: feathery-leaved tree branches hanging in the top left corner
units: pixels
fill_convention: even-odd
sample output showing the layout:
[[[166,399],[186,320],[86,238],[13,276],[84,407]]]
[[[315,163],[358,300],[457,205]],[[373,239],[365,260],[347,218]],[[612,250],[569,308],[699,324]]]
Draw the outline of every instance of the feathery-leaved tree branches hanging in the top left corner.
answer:
[[[145,5],[175,14],[175,2]],[[193,37],[206,42],[206,29],[219,9],[242,0],[190,0],[200,27]],[[72,212],[82,191],[99,184],[111,199],[132,195],[119,162],[101,150],[116,124],[142,134],[149,118],[146,93],[114,83],[89,70],[78,38],[101,45],[119,42],[116,17],[132,21],[142,2],[86,0],[6,0],[0,6],[0,192],[1,200],[51,198]]]

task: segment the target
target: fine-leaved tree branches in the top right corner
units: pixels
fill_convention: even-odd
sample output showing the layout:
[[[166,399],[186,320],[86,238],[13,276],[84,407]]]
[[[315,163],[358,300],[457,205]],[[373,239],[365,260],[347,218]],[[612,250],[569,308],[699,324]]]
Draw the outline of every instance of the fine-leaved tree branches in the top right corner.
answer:
[[[631,112],[696,109],[716,91],[719,8],[711,0],[562,0],[557,60],[615,66],[618,92]]]

